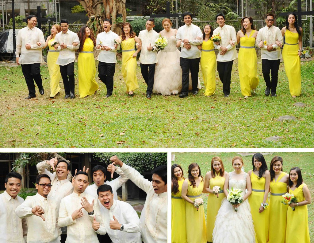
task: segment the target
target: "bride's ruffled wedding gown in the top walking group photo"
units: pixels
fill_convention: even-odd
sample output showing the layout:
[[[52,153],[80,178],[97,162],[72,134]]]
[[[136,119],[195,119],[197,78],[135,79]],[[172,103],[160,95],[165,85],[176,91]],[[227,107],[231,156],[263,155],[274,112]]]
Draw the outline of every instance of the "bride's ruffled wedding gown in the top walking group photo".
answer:
[[[176,48],[176,35],[171,29],[172,36],[166,37],[168,41],[165,49],[157,54],[158,62],[155,66],[153,93],[162,95],[178,94],[182,89],[182,69],[180,66],[180,51]],[[163,37],[165,31],[161,31]],[[189,75],[189,90],[192,90],[191,73]],[[198,81],[198,88],[201,84]]]

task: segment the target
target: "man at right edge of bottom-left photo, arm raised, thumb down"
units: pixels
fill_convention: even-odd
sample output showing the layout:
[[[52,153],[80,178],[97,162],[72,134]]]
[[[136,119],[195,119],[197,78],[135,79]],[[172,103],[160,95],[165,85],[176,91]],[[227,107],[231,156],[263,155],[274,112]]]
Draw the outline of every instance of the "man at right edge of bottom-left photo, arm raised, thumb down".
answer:
[[[110,158],[121,167],[125,175],[146,192],[146,201],[141,213],[142,239],[144,243],[167,242],[167,166],[161,165],[152,171],[152,181],[132,167],[124,164],[115,155]]]

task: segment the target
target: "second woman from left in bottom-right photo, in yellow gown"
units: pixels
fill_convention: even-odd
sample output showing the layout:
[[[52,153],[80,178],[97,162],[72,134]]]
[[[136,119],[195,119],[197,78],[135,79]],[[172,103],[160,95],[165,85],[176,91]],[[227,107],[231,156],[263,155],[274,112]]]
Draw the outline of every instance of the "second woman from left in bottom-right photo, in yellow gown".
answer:
[[[189,177],[184,180],[181,192],[181,197],[186,201],[187,242],[207,243],[204,206],[200,205],[198,211],[194,207],[195,199],[202,198],[204,180],[197,163],[189,165],[188,173]]]

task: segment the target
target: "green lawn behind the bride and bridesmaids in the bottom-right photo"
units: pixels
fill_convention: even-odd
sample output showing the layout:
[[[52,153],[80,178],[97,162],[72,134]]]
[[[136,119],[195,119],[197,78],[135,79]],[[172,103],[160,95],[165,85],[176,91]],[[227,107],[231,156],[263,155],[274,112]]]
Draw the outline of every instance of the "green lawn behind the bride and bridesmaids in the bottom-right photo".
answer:
[[[175,154],[175,161],[171,161],[172,164],[176,163],[181,165],[184,177],[187,178],[187,170],[188,166],[196,162],[201,168],[202,176],[205,178],[206,172],[210,171],[211,160],[214,156],[219,156],[225,167],[225,171],[230,172],[233,171],[232,168],[232,158],[234,156],[239,156],[237,153],[173,153]],[[292,167],[300,167],[302,170],[302,178],[305,184],[307,184],[312,198],[312,203],[307,205],[308,207],[308,216],[309,216],[309,230],[310,230],[310,239],[311,243],[314,243],[314,153],[284,153],[284,152],[276,152],[269,153],[268,155],[264,155],[265,160],[267,161],[267,165],[269,168],[270,161],[274,156],[281,156],[283,158],[283,170],[284,172],[289,173],[290,168]],[[245,172],[248,172],[252,169],[252,155],[242,156],[244,161],[244,169]],[[204,211],[205,217],[207,214],[207,197],[208,194],[203,194],[204,200]]]

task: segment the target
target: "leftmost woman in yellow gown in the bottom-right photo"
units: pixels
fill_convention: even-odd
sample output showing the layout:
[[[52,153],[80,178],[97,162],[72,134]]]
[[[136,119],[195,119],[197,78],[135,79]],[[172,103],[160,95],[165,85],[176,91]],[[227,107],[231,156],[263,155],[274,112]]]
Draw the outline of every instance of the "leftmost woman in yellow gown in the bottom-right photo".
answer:
[[[183,177],[182,167],[171,167],[171,243],[187,243],[185,223],[185,201],[181,197]]]

